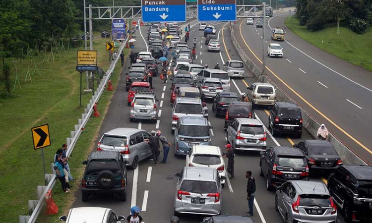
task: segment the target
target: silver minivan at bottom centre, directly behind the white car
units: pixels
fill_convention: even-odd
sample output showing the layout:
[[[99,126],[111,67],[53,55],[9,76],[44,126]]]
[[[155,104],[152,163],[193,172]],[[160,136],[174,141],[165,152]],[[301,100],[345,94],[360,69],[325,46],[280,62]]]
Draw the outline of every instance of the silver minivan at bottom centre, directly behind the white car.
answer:
[[[174,174],[179,177],[176,186],[174,215],[180,213],[219,215],[222,209],[222,186],[224,176],[209,167],[184,167]]]

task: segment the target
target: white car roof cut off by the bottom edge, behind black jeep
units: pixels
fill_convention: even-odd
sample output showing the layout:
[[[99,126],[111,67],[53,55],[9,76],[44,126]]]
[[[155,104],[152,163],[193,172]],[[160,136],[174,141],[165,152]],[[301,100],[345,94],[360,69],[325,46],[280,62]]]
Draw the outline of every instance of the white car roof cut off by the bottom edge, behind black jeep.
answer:
[[[61,216],[61,222],[66,223],[126,223],[124,216],[118,216],[109,208],[82,207],[71,208],[67,217]]]

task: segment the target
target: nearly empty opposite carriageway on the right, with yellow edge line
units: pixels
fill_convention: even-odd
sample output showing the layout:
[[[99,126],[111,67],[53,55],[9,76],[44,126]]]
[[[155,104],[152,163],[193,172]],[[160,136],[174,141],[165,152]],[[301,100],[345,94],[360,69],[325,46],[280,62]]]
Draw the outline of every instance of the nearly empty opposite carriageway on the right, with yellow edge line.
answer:
[[[284,49],[283,58],[266,57],[266,73],[311,116],[372,164],[372,72],[312,46],[289,29],[285,41],[271,40],[271,30],[284,28],[287,16],[288,10],[284,10],[266,19],[265,52],[274,42]],[[246,25],[246,20],[241,19],[234,31],[247,55],[262,66],[263,29],[255,28],[256,21]]]

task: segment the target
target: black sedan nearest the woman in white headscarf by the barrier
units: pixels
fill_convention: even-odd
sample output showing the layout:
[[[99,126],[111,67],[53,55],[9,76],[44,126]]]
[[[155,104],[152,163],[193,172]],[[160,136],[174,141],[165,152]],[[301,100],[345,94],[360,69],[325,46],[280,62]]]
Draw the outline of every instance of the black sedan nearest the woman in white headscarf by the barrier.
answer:
[[[325,140],[305,140],[293,145],[305,155],[310,171],[332,172],[340,165],[342,160],[335,148]]]

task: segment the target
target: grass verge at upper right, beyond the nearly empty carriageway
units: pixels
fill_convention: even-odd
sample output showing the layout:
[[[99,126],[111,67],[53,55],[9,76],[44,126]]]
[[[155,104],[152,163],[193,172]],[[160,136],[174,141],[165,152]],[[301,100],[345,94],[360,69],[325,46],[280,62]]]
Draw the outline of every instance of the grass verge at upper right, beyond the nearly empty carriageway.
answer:
[[[341,35],[337,36],[336,24],[329,24],[324,29],[310,32],[305,26],[300,26],[295,17],[287,17],[286,26],[310,44],[344,59],[352,64],[372,71],[371,49],[372,28],[359,35],[348,28],[340,27]]]

